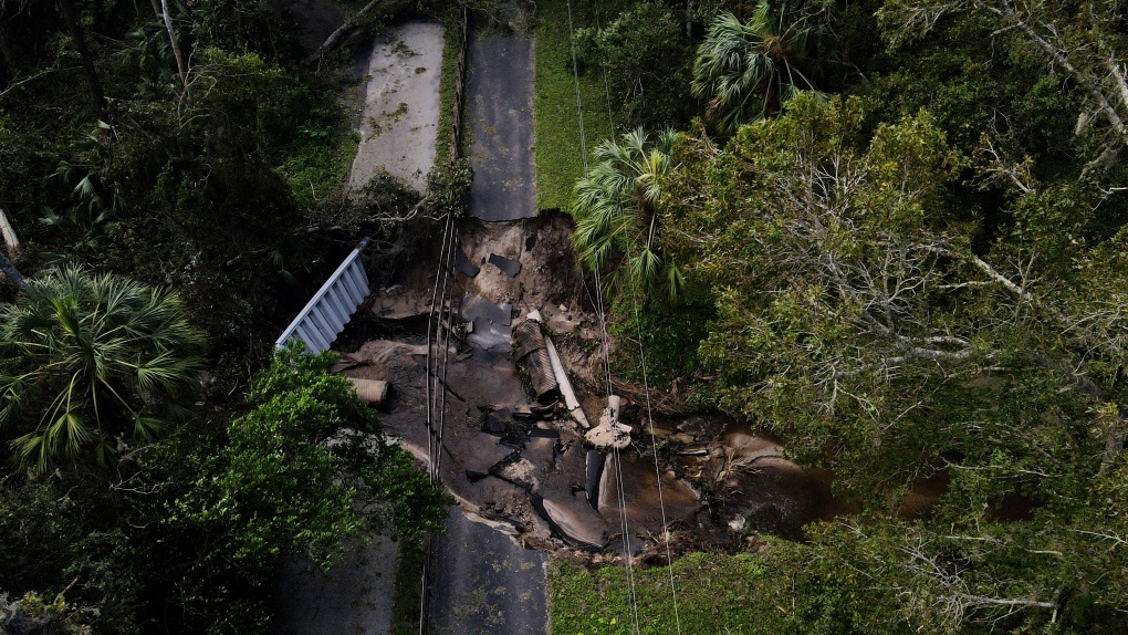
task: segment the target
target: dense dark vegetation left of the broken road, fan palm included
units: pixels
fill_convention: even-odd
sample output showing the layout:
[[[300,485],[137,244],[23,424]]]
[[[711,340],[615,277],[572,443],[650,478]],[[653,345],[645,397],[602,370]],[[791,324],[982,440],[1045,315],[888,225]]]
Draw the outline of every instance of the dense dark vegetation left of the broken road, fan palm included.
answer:
[[[422,196],[345,192],[349,53],[306,64],[299,32],[257,0],[0,2],[0,632],[262,633],[287,561],[441,527],[332,360],[272,356]]]

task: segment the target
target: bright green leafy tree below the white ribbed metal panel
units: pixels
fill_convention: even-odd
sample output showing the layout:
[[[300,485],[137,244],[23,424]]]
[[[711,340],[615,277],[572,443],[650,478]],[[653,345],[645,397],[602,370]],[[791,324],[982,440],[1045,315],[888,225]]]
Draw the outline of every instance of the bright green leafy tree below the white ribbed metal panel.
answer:
[[[164,495],[140,501],[184,619],[210,633],[261,633],[285,557],[328,567],[346,537],[414,536],[442,526],[444,497],[384,436],[329,354],[281,351],[227,440],[185,436],[141,459]],[[188,554],[193,554],[188,557]],[[224,581],[217,584],[217,581]]]

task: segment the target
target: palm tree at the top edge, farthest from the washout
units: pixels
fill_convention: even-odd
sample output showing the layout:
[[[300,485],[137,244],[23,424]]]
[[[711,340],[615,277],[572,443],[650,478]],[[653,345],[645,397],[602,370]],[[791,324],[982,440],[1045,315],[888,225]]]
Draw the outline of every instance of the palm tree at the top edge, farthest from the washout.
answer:
[[[804,74],[826,39],[823,12],[763,1],[747,23],[717,16],[694,61],[694,95],[707,99],[706,117],[723,134],[773,115],[814,85]]]

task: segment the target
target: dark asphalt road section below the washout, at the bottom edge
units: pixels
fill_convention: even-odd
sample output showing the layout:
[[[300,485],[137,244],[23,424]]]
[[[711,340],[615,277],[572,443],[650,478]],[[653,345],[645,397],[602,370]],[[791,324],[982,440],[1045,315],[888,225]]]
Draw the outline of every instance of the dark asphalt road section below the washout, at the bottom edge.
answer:
[[[545,635],[546,557],[458,508],[432,544],[432,635]]]

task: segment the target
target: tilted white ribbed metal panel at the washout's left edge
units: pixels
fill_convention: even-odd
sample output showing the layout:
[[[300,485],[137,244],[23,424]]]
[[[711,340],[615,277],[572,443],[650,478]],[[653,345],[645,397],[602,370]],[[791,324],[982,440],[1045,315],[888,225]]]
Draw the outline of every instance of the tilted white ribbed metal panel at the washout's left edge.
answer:
[[[345,257],[337,271],[333,272],[317,293],[314,293],[306,308],[282,332],[275,346],[285,346],[287,342],[297,337],[306,343],[306,351],[310,354],[328,350],[356,308],[368,298],[368,273],[360,259],[367,246],[368,238],[361,240]]]

